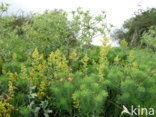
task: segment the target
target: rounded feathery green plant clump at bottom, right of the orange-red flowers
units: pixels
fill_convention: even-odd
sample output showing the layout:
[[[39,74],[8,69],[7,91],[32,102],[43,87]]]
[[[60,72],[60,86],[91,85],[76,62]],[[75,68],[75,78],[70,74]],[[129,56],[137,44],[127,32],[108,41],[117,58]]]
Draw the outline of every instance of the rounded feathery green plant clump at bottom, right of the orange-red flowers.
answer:
[[[107,92],[103,90],[100,83],[97,83],[97,76],[80,80],[78,90],[73,95],[74,107],[79,111],[80,116],[99,116],[105,103]]]

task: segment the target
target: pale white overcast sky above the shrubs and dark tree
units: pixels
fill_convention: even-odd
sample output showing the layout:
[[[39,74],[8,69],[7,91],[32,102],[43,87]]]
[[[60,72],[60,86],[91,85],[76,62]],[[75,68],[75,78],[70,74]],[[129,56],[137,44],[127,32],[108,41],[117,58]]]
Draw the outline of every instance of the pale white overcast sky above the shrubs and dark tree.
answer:
[[[107,22],[119,28],[126,19],[134,15],[138,9],[156,8],[156,0],[0,0],[10,4],[9,12],[19,9],[26,12],[43,12],[46,9],[75,10],[82,7],[97,14],[106,11]]]

